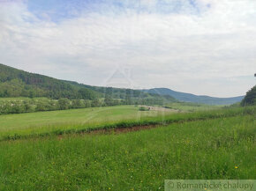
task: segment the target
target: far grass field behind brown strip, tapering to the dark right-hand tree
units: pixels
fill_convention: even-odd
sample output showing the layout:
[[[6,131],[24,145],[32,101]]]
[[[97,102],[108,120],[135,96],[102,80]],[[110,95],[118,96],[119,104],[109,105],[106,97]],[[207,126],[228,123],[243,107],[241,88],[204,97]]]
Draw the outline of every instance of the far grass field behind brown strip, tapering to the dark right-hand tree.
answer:
[[[63,134],[67,131],[86,129],[106,129],[112,126],[131,127],[148,125],[162,121],[183,121],[240,114],[243,108],[218,109],[197,113],[175,113],[165,111],[139,111],[139,107],[94,107],[63,111],[38,112],[27,114],[0,115],[0,140],[15,139],[19,136],[44,136],[44,134]],[[219,116],[220,117],[220,116]],[[121,124],[117,124],[120,122]]]

